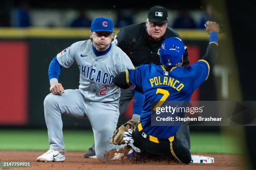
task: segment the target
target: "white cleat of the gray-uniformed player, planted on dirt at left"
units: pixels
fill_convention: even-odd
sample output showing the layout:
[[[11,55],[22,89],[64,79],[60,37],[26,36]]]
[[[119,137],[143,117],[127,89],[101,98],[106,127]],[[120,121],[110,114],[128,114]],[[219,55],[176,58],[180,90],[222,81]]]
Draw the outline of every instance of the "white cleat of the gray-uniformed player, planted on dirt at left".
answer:
[[[49,149],[46,153],[39,156],[37,162],[63,162],[65,160],[65,150]]]

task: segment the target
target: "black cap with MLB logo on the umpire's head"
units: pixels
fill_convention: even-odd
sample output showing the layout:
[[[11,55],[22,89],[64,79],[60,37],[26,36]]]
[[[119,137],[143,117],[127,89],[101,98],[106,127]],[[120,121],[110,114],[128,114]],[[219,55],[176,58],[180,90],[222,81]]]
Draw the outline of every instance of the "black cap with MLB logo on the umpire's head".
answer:
[[[159,22],[159,23],[168,23],[168,13],[165,7],[156,5],[151,7],[148,11],[148,21]]]

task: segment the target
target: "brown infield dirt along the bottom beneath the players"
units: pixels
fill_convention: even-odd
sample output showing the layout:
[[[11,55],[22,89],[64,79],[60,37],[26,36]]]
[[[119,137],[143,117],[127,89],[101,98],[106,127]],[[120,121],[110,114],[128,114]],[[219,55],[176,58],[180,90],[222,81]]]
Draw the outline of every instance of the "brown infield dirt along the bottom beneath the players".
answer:
[[[205,155],[214,158],[212,164],[195,164],[182,165],[179,163],[128,163],[128,162],[107,162],[101,163],[97,159],[84,158],[83,152],[68,152],[66,160],[63,163],[40,163],[36,158],[43,154],[42,151],[0,151],[0,161],[28,161],[31,162],[31,168],[20,168],[20,170],[241,170],[247,169],[243,165],[241,155],[220,155],[220,154],[195,154]],[[118,168],[120,167],[120,168]],[[1,169],[1,168],[0,168]],[[17,168],[8,168],[15,169]],[[19,168],[18,168],[19,169]]]

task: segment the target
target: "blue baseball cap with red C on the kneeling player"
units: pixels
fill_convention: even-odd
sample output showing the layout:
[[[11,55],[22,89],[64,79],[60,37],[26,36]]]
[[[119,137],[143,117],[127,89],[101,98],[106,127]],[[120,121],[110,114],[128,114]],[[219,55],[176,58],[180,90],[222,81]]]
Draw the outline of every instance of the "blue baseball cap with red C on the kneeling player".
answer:
[[[91,24],[91,31],[100,32],[114,32],[113,31],[113,21],[109,18],[99,17],[95,18]]]

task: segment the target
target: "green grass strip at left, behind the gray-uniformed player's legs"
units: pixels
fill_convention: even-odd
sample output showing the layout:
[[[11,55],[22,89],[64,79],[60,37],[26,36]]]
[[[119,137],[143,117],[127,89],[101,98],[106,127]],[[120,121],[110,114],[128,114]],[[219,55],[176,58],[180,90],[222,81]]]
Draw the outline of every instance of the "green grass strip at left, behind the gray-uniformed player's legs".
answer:
[[[83,151],[94,143],[89,130],[63,130],[67,150]],[[0,150],[48,150],[47,130],[0,130]]]

